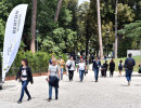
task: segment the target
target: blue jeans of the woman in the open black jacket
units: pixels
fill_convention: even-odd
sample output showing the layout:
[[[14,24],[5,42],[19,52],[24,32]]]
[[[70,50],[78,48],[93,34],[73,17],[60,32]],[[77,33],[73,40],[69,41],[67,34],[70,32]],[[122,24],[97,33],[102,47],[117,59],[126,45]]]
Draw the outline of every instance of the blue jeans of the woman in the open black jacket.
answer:
[[[28,81],[22,81],[22,92],[21,92],[21,98],[20,98],[20,100],[23,99],[24,92],[27,94],[28,98],[30,98],[30,94],[29,94],[29,92],[27,90],[27,85],[28,85]]]

